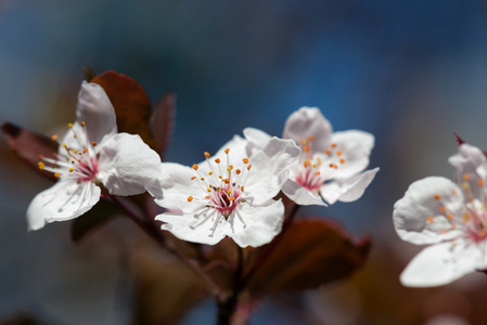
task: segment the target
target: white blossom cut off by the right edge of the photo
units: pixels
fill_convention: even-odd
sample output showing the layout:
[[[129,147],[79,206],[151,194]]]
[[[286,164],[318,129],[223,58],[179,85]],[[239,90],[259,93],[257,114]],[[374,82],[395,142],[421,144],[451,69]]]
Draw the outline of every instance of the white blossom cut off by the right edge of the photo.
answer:
[[[394,206],[400,238],[424,248],[406,268],[406,286],[448,284],[487,269],[487,160],[480,150],[462,144],[450,164],[457,183],[428,177],[412,183]]]

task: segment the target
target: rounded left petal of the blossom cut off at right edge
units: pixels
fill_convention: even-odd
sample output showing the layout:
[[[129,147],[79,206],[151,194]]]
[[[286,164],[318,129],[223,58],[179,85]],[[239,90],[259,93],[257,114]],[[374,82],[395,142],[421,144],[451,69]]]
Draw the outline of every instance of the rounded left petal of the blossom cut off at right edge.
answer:
[[[393,221],[401,239],[435,244],[462,235],[453,222],[463,212],[460,188],[446,178],[428,177],[412,183],[394,205]]]

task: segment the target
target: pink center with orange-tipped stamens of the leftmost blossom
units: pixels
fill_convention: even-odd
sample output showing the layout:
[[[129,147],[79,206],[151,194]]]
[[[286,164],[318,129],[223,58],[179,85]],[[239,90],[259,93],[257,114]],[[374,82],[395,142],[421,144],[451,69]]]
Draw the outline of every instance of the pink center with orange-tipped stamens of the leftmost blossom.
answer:
[[[38,162],[39,169],[43,169],[54,173],[55,178],[73,179],[76,182],[92,182],[97,178],[99,171],[98,159],[95,156],[94,147],[95,142],[88,142],[86,133],[86,123],[80,123],[80,133],[77,134],[73,129],[73,123],[69,123],[71,134],[75,141],[72,146],[66,143],[60,143],[63,150],[57,154],[54,154],[56,159],[48,157],[40,157],[41,161]],[[56,141],[57,135],[51,136]]]

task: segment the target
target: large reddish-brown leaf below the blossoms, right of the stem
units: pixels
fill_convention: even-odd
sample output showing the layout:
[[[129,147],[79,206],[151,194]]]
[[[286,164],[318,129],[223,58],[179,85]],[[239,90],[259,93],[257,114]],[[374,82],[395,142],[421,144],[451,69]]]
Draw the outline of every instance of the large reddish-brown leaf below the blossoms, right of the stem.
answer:
[[[369,239],[354,242],[331,221],[294,221],[251,278],[249,287],[257,295],[316,288],[359,269],[369,250]]]

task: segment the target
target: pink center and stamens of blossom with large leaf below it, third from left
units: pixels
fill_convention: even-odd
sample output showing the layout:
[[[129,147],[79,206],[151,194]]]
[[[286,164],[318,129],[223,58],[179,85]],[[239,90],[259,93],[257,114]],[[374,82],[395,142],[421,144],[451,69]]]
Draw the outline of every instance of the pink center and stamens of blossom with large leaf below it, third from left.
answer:
[[[336,169],[345,164],[343,152],[335,143],[332,143],[323,153],[313,153],[313,141],[312,135],[302,139],[300,164],[293,171],[294,181],[308,191],[320,190],[325,181],[333,179]]]

